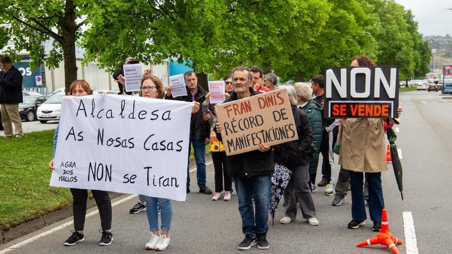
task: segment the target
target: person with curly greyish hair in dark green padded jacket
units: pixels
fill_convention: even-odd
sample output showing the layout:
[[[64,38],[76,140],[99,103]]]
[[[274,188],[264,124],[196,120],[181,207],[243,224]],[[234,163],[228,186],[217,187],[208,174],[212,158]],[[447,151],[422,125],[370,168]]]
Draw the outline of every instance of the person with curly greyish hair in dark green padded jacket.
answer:
[[[312,154],[312,159],[309,162],[309,178],[311,179],[311,190],[315,192],[315,177],[317,175],[318,154],[320,151],[320,145],[322,144],[322,106],[316,103],[312,98],[311,83],[298,82],[293,84],[297,93],[298,108],[305,111],[308,115],[309,122],[312,127],[312,134],[314,136],[316,151]]]

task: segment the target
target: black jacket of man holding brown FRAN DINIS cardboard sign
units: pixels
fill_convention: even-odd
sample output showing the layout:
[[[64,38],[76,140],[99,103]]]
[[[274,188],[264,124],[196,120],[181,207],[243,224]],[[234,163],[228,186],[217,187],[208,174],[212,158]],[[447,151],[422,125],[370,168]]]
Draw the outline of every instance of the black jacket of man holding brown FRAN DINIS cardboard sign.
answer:
[[[250,88],[251,95],[260,94]],[[224,103],[237,100],[237,94],[232,92],[229,99]],[[220,133],[216,133],[217,138],[222,141]],[[266,175],[275,171],[273,164],[273,151],[270,149],[267,152],[260,152],[258,150],[244,152],[240,154],[230,155],[226,157],[228,164],[228,175],[231,177],[252,177],[254,175]]]

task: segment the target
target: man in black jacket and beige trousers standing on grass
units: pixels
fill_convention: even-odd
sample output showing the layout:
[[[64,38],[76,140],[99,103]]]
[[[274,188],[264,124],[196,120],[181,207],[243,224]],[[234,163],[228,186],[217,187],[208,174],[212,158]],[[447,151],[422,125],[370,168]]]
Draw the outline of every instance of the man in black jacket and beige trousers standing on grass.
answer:
[[[4,56],[0,58],[0,111],[2,123],[5,129],[4,137],[12,137],[12,124],[16,138],[22,138],[22,120],[19,115],[19,103],[22,99],[22,73],[11,63],[11,58]]]

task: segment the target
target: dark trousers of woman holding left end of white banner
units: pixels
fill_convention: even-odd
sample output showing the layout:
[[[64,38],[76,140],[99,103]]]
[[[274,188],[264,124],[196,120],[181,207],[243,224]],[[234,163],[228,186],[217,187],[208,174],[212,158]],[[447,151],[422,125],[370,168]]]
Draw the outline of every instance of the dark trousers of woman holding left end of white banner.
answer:
[[[74,203],[72,210],[74,213],[74,230],[82,231],[85,225],[86,200],[88,199],[88,190],[70,189]],[[96,200],[101,217],[102,230],[111,229],[111,202],[108,192],[103,190],[91,190],[92,196]]]

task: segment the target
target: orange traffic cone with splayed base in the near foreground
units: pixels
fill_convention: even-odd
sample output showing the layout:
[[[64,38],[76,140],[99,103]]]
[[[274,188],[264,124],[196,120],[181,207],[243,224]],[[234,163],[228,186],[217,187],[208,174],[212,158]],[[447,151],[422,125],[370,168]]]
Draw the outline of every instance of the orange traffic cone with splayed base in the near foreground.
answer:
[[[383,209],[382,211],[382,228],[380,230],[380,233],[378,233],[378,235],[376,235],[375,237],[357,243],[356,247],[363,247],[376,244],[385,245],[394,254],[399,254],[399,250],[397,250],[396,244],[402,244],[402,241],[392,236],[392,233],[389,231],[388,216],[386,215],[386,209]]]

